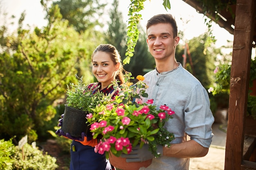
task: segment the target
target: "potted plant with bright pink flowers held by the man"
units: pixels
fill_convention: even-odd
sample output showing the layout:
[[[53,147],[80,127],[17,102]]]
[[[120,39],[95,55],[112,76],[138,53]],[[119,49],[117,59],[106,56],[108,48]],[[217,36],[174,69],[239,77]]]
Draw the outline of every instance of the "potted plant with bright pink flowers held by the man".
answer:
[[[142,82],[143,76],[137,76],[138,81],[135,84],[130,82],[133,78],[130,76],[130,73],[126,73],[126,83],[119,86],[122,91],[114,101],[96,106],[87,117],[93,138],[101,136],[95,152],[105,154],[106,158],[110,158],[112,165],[123,170],[136,170],[141,166],[135,168],[134,163],[125,166],[126,161],[123,160],[122,167],[119,167],[116,163],[119,162],[117,157],[120,157],[121,153],[129,154],[137,144],[140,147],[148,144],[154,157],[159,157],[157,145],[170,147],[170,142],[175,139],[173,133],[164,128],[164,123],[173,118],[174,111],[168,106],[160,106],[157,109],[152,105],[152,99],[146,103],[135,103],[134,99],[148,96],[145,93],[147,86]],[[113,84],[114,87],[118,86],[117,82]],[[115,159],[112,159],[113,157]],[[149,166],[151,162],[152,160],[148,161],[148,165],[144,167]]]

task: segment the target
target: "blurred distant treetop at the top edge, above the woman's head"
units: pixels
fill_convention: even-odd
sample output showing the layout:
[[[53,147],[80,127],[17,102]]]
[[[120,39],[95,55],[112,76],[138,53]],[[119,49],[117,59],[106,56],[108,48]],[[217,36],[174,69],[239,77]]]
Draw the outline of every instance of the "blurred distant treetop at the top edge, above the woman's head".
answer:
[[[106,6],[100,0],[60,0],[53,4],[61,9],[63,20],[68,20],[69,25],[79,33],[100,24],[99,18]]]

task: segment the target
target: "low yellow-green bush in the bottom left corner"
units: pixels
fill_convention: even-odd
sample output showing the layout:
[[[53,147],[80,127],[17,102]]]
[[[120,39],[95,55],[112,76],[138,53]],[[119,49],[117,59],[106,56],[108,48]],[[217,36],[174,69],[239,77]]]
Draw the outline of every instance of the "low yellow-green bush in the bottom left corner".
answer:
[[[14,146],[11,139],[0,140],[0,170],[55,170],[58,167],[55,158],[29,144],[23,146],[23,154],[24,160],[22,149]]]

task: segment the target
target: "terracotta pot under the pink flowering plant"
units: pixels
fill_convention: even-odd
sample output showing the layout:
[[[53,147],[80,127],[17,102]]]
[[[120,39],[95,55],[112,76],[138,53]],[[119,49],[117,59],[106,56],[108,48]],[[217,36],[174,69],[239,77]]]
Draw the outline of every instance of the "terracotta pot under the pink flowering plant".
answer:
[[[126,158],[116,157],[114,154],[109,154],[109,161],[112,166],[121,170],[139,170],[141,167],[148,167],[152,163],[152,159],[143,162],[126,162]]]

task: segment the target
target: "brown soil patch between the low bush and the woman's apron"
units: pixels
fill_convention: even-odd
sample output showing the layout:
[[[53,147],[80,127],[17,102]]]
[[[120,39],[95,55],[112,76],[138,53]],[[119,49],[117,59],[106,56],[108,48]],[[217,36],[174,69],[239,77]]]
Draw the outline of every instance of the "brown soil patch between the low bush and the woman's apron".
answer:
[[[60,146],[57,145],[56,141],[48,139],[43,144],[40,144],[43,153],[47,152],[48,155],[56,158],[56,164],[58,168],[55,170],[69,170],[70,154],[63,153]]]

